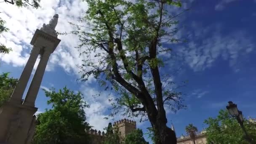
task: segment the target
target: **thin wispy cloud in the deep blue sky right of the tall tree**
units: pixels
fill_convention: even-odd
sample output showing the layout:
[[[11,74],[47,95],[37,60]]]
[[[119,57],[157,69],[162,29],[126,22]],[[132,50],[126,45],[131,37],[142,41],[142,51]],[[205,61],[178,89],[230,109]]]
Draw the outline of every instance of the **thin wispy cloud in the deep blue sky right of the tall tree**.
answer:
[[[220,58],[229,61],[229,67],[235,71],[239,61],[245,59],[246,54],[255,51],[255,42],[245,31],[223,35],[218,24],[202,29],[194,25],[194,31],[189,34],[189,43],[176,51],[181,61],[195,72],[212,67]]]

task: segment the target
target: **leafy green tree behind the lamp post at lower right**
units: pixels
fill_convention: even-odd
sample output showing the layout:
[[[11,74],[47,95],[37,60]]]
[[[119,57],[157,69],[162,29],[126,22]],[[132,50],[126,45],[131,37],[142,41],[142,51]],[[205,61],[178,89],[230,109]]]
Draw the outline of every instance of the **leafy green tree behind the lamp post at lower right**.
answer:
[[[221,109],[216,118],[209,117],[204,123],[208,125],[208,128],[206,128],[206,136],[209,143],[249,144],[245,140],[244,133],[239,123],[227,110]],[[244,126],[248,135],[253,139],[254,143],[256,143],[256,123],[245,120]]]

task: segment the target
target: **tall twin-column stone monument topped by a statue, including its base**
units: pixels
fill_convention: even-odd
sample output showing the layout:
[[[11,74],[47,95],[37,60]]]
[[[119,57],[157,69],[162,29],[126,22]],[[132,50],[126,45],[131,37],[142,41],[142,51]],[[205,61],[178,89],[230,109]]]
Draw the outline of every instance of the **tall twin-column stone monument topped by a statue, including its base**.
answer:
[[[35,31],[31,40],[33,45],[27,64],[24,67],[19,82],[13,90],[11,99],[0,107],[0,144],[30,144],[35,131],[35,100],[43,79],[48,59],[59,45],[55,31],[58,22],[58,14],[53,16],[49,24]],[[40,62],[29,85],[26,98],[22,102],[22,96],[27,87],[37,57]]]

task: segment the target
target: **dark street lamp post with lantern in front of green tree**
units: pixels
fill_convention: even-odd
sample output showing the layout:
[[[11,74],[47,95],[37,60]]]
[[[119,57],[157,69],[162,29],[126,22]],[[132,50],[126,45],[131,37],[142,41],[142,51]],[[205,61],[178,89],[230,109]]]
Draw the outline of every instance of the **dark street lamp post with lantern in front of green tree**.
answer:
[[[241,126],[243,132],[245,133],[245,139],[248,141],[250,144],[252,143],[252,139],[249,137],[247,131],[245,130],[245,127],[243,125],[243,115],[242,112],[237,109],[237,104],[234,104],[232,101],[228,102],[229,104],[227,105],[227,110],[229,111],[229,114],[232,115],[232,117],[235,117],[237,119],[237,122]]]

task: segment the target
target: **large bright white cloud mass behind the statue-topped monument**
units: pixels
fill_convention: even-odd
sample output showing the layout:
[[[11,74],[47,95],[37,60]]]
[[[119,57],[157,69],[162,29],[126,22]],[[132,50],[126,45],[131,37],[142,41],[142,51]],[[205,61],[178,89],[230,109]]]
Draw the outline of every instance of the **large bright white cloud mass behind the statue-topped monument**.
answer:
[[[10,31],[0,37],[0,43],[13,49],[9,54],[0,55],[0,59],[5,63],[14,67],[23,67],[32,49],[29,43],[35,30],[42,27],[43,23],[48,23],[55,13],[59,14],[56,30],[69,32],[73,28],[68,22],[76,22],[87,9],[87,4],[81,0],[44,0],[40,4],[41,8],[32,9],[1,3],[0,17],[6,21],[6,27]],[[46,71],[52,71],[54,67],[59,66],[66,72],[78,74],[77,65],[81,65],[82,61],[74,48],[78,43],[77,37],[60,35],[58,38],[61,39],[61,43],[51,55]]]

